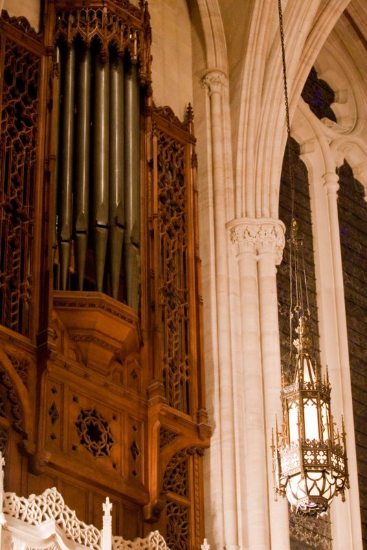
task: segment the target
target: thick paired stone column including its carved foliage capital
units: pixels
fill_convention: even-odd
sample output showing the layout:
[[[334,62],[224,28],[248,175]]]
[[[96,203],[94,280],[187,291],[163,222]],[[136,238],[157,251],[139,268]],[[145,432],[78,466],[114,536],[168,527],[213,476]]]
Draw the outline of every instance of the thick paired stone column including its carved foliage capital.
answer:
[[[281,221],[247,218],[228,228],[240,278],[248,547],[286,550],[287,504],[274,503],[270,449],[276,412],[281,417],[276,264],[285,229]]]

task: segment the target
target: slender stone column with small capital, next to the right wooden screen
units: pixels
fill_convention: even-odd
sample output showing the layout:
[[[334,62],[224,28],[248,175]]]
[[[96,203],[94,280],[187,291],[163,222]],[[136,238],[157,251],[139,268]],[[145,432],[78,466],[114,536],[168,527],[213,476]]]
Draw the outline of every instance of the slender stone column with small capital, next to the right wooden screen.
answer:
[[[219,392],[219,403],[214,404],[214,422],[219,423],[214,430],[210,453],[215,456],[219,472],[212,476],[211,492],[219,494],[221,503],[216,504],[215,514],[223,515],[223,544],[227,550],[238,549],[238,522],[236,496],[235,463],[235,420],[232,348],[230,336],[230,305],[228,298],[226,197],[225,197],[225,151],[223,145],[223,86],[227,78],[223,72],[208,72],[203,83],[210,98],[210,129],[212,150],[212,185],[214,211],[214,252],[215,252],[215,298],[216,298],[216,360],[214,360]],[[217,363],[216,363],[217,361]],[[216,364],[215,364],[216,363]],[[221,488],[218,485],[221,483]],[[212,496],[213,498],[213,496]],[[219,510],[219,508],[222,508]],[[216,533],[213,533],[215,536]],[[217,541],[216,544],[219,544]]]

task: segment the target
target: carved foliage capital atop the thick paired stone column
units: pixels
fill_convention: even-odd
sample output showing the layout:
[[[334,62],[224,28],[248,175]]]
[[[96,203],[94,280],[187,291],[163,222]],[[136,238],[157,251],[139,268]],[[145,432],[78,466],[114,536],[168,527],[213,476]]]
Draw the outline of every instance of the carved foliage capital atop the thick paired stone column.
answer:
[[[285,225],[280,220],[270,218],[239,218],[228,223],[230,239],[236,247],[237,255],[274,254],[276,265],[282,261],[285,246]]]

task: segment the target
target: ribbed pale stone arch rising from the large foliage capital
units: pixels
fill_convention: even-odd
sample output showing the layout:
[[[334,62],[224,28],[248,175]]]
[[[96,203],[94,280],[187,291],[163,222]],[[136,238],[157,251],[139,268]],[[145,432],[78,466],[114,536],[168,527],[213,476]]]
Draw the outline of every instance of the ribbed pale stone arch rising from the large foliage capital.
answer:
[[[291,115],[315,58],[347,4],[347,0],[334,0],[324,8],[318,0],[287,4],[283,19]],[[254,43],[245,57],[236,151],[236,189],[241,194],[237,214],[276,218],[287,137],[278,14],[269,3],[253,17],[255,28],[267,25],[270,32],[266,47]],[[263,39],[253,34],[257,41]],[[263,50],[263,59],[257,60]]]

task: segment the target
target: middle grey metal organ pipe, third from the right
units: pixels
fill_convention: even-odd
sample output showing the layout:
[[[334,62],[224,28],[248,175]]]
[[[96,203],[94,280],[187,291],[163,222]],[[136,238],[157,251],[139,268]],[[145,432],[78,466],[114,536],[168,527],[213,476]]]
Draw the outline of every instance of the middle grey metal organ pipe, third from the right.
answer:
[[[109,223],[109,61],[94,61],[93,224],[96,289],[102,292]]]

